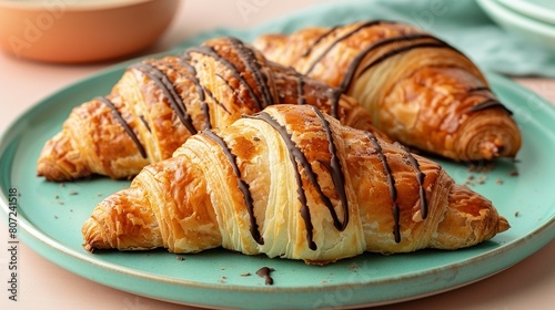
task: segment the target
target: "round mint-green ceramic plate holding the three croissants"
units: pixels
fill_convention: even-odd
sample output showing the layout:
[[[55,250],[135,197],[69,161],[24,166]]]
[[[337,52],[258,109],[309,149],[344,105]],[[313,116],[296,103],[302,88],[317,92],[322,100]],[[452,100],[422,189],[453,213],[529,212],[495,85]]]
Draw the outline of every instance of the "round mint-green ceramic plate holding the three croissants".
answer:
[[[82,223],[98,202],[129,182],[99,177],[48,183],[36,176],[36,162],[43,143],[60,130],[70,110],[107,93],[123,69],[115,66],[43,100],[17,120],[0,142],[2,217],[14,217],[8,203],[13,192],[10,188],[14,188],[18,239],[84,278],[141,296],[210,308],[376,306],[488,277],[555,236],[554,108],[534,93],[490,74],[493,89],[522,127],[524,145],[518,161],[500,161],[487,173],[443,164],[457,182],[473,175],[475,184],[471,186],[492,199],[511,221],[512,228],[491,241],[456,251],[423,250],[389,257],[365,254],[324,267],[223,249],[180,256],[184,259],[165,250],[89,254],[81,247]],[[273,286],[265,286],[255,275],[264,266],[275,269]]]

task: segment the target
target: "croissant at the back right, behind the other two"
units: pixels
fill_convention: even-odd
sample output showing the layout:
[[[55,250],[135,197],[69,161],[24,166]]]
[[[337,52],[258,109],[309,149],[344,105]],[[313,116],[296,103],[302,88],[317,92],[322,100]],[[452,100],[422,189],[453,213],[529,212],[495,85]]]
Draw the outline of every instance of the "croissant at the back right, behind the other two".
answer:
[[[461,162],[514,157],[521,147],[511,111],[478,68],[414,27],[362,21],[265,34],[253,45],[354,96],[379,130],[404,145]]]

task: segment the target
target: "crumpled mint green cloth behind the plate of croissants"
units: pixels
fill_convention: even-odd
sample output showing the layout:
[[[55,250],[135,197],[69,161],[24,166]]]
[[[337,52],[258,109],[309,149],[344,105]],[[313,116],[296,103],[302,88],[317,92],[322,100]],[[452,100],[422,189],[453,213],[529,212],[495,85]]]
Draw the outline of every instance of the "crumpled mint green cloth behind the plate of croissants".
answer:
[[[290,33],[310,25],[335,25],[360,20],[403,21],[420,27],[460,49],[485,70],[507,75],[555,76],[555,55],[506,32],[473,0],[359,0],[317,4],[248,30],[214,29],[179,48],[231,35],[251,42],[263,33]]]

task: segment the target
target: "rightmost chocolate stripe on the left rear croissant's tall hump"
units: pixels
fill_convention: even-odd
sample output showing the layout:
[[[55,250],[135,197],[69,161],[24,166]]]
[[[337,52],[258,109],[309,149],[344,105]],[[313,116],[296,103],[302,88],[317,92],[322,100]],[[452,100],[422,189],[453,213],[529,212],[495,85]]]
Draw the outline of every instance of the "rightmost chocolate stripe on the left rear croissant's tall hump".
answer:
[[[274,104],[270,86],[268,85],[268,76],[262,72],[254,52],[251,49],[245,48],[243,42],[235,38],[229,37],[225,39],[230,42],[231,46],[235,49],[235,52],[243,61],[246,70],[252,72],[254,80],[256,81],[256,85],[262,93],[262,99],[264,101],[263,107]]]

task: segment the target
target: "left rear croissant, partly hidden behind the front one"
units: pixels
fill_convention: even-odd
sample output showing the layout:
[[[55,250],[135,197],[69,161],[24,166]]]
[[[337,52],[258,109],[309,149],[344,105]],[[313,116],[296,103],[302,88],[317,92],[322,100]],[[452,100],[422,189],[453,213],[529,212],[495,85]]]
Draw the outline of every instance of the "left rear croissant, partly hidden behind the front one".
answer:
[[[278,103],[315,105],[346,125],[375,131],[355,100],[268,62],[236,39],[219,38],[128,68],[110,94],[71,112],[46,143],[38,175],[49,180],[132,177],[171,157],[196,132],[228,126]]]

